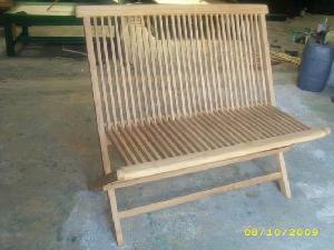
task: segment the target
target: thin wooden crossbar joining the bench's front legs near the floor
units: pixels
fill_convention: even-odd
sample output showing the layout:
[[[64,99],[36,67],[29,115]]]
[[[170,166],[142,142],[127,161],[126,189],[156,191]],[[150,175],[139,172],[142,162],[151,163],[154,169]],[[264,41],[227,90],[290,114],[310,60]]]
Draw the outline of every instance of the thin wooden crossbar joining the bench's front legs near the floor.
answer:
[[[194,200],[198,200],[198,199],[202,199],[202,198],[205,198],[205,197],[218,194],[218,193],[222,193],[222,192],[234,191],[234,190],[237,190],[237,189],[256,186],[256,184],[264,183],[264,182],[275,181],[275,180],[278,180],[281,178],[282,178],[281,172],[274,172],[274,173],[269,173],[269,174],[266,174],[266,176],[256,177],[256,178],[252,178],[252,179],[248,179],[248,180],[244,180],[244,181],[222,186],[222,187],[218,187],[218,188],[214,188],[214,189],[209,189],[209,190],[205,190],[205,191],[200,191],[200,192],[195,192],[195,193],[183,196],[183,197],[173,198],[170,200],[160,201],[160,202],[156,202],[156,203],[151,203],[151,204],[147,204],[147,206],[143,206],[143,207],[120,211],[119,212],[119,218],[124,219],[124,218],[129,218],[129,217],[138,216],[138,214],[141,214],[141,213],[146,213],[146,212],[153,212],[153,211],[156,211],[156,210],[170,208],[170,207],[174,207],[174,206],[190,202],[190,201],[194,201]]]

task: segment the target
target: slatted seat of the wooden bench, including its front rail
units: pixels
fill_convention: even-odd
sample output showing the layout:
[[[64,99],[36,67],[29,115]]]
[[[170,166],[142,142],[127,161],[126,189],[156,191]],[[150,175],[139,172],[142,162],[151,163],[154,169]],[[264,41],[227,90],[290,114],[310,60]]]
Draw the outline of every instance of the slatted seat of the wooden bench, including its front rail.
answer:
[[[326,129],[311,129],[273,106],[107,130],[126,163],[117,171],[119,180],[288,147],[324,137],[327,132]]]

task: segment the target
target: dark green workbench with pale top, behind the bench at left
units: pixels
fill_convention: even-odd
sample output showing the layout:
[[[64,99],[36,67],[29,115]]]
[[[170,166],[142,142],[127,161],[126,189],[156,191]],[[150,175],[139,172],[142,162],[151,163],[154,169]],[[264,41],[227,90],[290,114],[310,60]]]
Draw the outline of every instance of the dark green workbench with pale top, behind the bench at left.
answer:
[[[107,2],[107,0],[101,1],[109,4],[115,3]],[[122,0],[119,1],[119,3],[121,2]],[[29,34],[29,27],[33,26],[82,26],[82,20],[76,17],[78,4],[87,3],[61,2],[52,6],[52,3],[47,2],[18,2],[3,14],[7,56],[16,56],[17,42],[84,44],[84,37],[31,37]],[[19,36],[13,33],[16,26],[22,27],[22,32]]]

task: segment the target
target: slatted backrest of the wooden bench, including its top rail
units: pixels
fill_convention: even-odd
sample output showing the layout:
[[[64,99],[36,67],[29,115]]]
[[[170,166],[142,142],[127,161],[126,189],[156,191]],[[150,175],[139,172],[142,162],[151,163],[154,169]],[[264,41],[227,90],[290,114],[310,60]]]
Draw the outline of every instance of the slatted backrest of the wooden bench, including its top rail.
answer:
[[[259,4],[79,7],[105,124],[274,104],[266,12]]]

